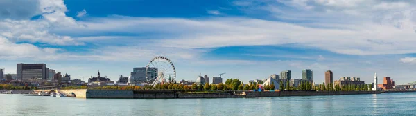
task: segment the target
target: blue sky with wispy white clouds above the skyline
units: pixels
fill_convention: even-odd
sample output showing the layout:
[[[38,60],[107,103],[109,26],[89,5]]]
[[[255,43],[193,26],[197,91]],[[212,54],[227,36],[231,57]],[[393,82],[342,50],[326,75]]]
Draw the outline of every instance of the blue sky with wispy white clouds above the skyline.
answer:
[[[198,75],[266,79],[313,70],[313,80],[376,72],[416,81],[416,1],[408,0],[2,0],[0,67],[44,63],[72,79],[117,81],[153,57],[177,80]]]

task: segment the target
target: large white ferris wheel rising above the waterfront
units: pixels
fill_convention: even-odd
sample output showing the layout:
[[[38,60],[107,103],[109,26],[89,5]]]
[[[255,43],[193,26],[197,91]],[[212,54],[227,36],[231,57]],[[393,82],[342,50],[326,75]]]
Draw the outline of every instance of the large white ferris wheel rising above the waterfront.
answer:
[[[167,57],[155,57],[146,66],[146,80],[148,84],[156,86],[157,84],[173,83],[175,79],[175,66]]]

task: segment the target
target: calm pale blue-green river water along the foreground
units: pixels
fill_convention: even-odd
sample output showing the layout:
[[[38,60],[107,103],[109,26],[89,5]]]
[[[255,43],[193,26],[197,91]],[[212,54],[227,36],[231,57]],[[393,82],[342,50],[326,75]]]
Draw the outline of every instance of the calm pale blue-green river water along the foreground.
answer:
[[[81,99],[0,94],[0,115],[416,115],[416,93],[223,99]]]

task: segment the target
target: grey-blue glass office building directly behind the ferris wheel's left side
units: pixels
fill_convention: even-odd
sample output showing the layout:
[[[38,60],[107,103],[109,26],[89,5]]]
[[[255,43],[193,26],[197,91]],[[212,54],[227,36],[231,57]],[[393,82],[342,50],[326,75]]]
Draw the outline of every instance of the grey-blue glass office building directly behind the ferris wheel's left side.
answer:
[[[148,76],[150,77],[150,79],[157,77],[157,68],[149,67]],[[148,82],[148,80],[146,79],[146,67],[133,68],[133,72],[130,72],[130,77],[134,80],[135,83]]]

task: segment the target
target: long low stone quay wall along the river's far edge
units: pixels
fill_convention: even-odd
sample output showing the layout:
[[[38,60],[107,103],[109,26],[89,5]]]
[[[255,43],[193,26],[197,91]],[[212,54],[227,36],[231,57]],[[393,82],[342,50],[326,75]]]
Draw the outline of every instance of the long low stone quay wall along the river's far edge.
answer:
[[[182,91],[182,90],[60,90],[75,93],[80,98],[127,98],[127,99],[173,99],[173,98],[236,98],[236,97],[285,97],[313,95],[379,94],[380,91]]]

